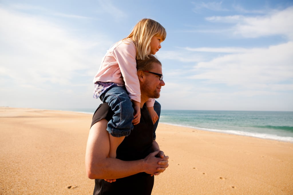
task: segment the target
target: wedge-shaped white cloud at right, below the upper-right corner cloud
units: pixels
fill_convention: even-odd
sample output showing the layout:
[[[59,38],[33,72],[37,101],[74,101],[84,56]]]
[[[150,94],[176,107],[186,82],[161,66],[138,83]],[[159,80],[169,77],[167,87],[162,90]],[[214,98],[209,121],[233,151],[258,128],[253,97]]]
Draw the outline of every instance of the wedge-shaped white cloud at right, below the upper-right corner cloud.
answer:
[[[195,66],[190,78],[249,89],[284,90],[293,82],[293,42],[228,54]],[[282,82],[289,82],[281,87]]]

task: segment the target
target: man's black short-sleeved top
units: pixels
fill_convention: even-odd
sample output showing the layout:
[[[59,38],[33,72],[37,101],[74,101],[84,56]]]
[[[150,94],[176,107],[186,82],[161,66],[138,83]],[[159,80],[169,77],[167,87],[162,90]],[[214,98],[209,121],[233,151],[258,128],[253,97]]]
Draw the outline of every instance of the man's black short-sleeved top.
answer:
[[[141,118],[138,125],[130,135],[125,137],[117,148],[117,157],[123,161],[134,161],[145,158],[151,153],[153,143],[153,122],[147,111],[146,106],[140,109]],[[93,115],[92,124],[105,118],[110,120],[113,117],[113,111],[107,103],[102,103]],[[150,195],[154,185],[154,176],[151,177],[145,172],[141,172],[129,177],[117,179],[116,182],[106,182],[102,179],[95,180],[94,195],[107,194],[142,194]]]

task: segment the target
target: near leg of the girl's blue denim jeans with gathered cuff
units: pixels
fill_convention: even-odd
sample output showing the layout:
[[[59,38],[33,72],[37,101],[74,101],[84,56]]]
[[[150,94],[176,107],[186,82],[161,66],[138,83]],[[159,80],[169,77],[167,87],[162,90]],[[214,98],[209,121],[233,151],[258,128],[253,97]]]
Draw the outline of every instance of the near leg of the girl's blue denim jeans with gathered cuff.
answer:
[[[108,122],[107,131],[114,137],[129,135],[133,129],[134,109],[126,88],[113,86],[101,94],[100,99],[107,102],[114,112],[113,118]]]

